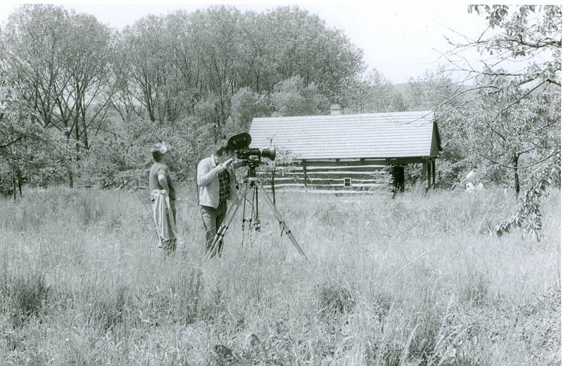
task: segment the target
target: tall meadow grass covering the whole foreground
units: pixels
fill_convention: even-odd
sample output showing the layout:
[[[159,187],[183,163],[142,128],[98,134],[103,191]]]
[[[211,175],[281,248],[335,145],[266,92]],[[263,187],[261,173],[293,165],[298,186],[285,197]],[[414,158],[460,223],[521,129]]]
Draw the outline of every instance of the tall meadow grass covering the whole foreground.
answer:
[[[559,365],[560,192],[545,238],[489,232],[512,194],[277,193],[203,260],[193,189],[165,256],[145,191],[31,191],[0,211],[2,365]]]

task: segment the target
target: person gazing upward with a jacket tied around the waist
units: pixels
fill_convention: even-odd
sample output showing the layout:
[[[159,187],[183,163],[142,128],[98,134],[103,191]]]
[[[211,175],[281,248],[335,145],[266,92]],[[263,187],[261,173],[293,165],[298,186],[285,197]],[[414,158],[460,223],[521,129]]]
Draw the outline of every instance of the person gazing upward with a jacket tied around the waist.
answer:
[[[151,190],[151,206],[158,235],[158,247],[167,253],[176,250],[176,193],[170,179],[169,165],[172,163],[170,149],[165,144],[156,144],[152,150],[155,163],[148,173],[148,189]]]

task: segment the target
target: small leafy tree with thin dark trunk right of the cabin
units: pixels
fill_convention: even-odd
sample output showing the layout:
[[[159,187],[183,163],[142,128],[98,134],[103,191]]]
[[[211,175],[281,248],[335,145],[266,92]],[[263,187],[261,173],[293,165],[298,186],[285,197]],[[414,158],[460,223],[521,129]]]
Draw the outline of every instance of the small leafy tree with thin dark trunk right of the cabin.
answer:
[[[504,168],[512,175],[516,195],[520,193],[520,172],[536,165],[556,163],[560,151],[559,88],[546,87],[526,98],[529,90],[504,87],[505,80],[487,81],[498,84],[500,92],[482,91],[479,103],[462,112],[467,122],[465,146],[473,162],[481,162],[483,171]]]

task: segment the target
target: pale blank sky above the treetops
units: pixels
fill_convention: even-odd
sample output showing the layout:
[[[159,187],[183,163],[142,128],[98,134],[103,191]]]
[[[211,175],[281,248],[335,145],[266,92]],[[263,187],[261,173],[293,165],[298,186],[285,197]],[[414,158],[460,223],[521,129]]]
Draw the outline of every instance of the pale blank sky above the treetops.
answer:
[[[27,3],[33,1],[25,1]],[[3,1],[0,26],[15,7],[23,4]],[[445,36],[460,39],[459,34],[476,37],[486,28],[483,15],[468,13],[467,4],[449,2],[377,2],[377,1],[53,1],[78,13],[95,15],[101,22],[122,29],[148,14],[166,14],[178,9],[195,11],[211,4],[225,4],[241,11],[265,11],[277,6],[298,4],[323,19],[327,27],[338,28],[364,52],[369,69],[376,68],[384,77],[398,84],[409,77],[422,77],[424,70],[435,70],[445,63],[441,53],[452,47]],[[477,53],[469,55],[476,60]]]

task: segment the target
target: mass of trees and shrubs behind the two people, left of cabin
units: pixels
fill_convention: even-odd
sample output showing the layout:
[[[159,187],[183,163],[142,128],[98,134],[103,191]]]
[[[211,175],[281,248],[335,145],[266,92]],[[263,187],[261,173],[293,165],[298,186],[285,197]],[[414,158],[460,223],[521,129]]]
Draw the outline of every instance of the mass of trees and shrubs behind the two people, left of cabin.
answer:
[[[18,174],[41,184],[139,181],[161,139],[189,177],[255,116],[324,113],[362,65],[342,32],[296,6],[149,15],[118,32],[62,6],[24,5],[0,37],[3,80],[20,96],[11,125],[41,134],[25,140]],[[24,161],[34,164],[25,174]]]

